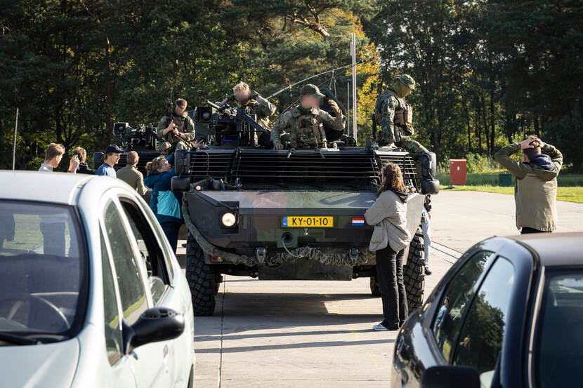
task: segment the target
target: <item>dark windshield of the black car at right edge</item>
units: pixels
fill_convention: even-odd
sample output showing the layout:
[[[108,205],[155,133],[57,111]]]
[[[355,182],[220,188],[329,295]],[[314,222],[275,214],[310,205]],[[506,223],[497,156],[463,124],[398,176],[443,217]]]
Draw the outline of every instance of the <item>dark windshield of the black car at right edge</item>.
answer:
[[[583,365],[583,271],[545,274],[537,323],[539,387],[579,387]]]

